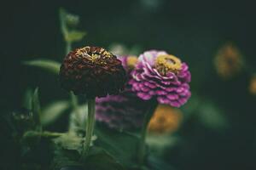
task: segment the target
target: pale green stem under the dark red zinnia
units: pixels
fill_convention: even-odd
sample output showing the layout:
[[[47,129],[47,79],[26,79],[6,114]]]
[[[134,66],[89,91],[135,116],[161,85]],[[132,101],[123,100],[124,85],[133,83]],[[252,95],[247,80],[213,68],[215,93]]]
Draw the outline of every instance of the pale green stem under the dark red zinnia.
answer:
[[[95,124],[95,99],[88,99],[88,116],[86,123],[86,135],[84,141],[84,153],[87,153],[90,148],[90,140],[93,134]]]

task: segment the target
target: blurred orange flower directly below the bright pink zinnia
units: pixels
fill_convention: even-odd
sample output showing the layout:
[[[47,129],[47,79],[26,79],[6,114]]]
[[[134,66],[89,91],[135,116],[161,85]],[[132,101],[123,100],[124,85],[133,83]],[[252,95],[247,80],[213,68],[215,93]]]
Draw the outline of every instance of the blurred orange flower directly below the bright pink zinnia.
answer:
[[[182,121],[182,112],[170,105],[158,105],[148,124],[148,133],[172,133]]]

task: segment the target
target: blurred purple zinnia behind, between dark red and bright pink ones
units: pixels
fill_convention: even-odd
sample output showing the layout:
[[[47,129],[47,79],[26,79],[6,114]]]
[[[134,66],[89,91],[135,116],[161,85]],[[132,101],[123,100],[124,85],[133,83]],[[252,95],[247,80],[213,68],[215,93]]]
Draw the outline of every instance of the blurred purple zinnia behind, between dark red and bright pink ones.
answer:
[[[137,57],[124,56],[119,59],[131,78]],[[131,91],[131,85],[126,84],[125,90],[118,95],[96,98],[96,120],[111,128],[132,130],[142,126],[144,108],[145,102]]]

